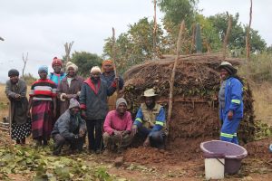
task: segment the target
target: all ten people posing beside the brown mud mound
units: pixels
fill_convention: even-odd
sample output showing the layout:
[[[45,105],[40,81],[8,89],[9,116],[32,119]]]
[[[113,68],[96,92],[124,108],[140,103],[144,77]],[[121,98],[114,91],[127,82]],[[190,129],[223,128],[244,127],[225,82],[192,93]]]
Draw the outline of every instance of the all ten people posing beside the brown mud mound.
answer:
[[[102,62],[102,70],[92,67],[86,80],[77,75],[78,67],[73,62],[67,62],[63,72],[62,60],[55,57],[52,67],[49,75],[47,66],[39,68],[40,79],[32,84],[29,100],[19,71],[8,71],[10,79],[6,81],[5,93],[10,100],[11,138],[17,144],[24,144],[32,133],[37,146],[46,146],[53,138],[54,155],[61,154],[64,144],[69,144],[72,151],[82,151],[86,135],[92,153],[121,152],[138,138],[144,139],[145,147],[164,148],[166,115],[156,103],[155,90],[143,92],[143,101],[132,121],[127,101],[116,92],[122,90],[124,82],[115,76],[111,60]],[[219,70],[220,138],[238,144],[243,85],[229,62],[222,62]]]

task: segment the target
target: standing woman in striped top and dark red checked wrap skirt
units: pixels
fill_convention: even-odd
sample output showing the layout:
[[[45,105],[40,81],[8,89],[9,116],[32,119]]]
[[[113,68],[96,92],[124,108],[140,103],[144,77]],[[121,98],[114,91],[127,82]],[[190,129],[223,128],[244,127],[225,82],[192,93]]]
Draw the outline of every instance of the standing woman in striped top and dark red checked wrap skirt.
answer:
[[[39,68],[40,79],[31,86],[29,107],[32,108],[32,134],[41,146],[42,141],[47,145],[53,129],[53,118],[56,115],[56,85],[47,79],[48,67]]]

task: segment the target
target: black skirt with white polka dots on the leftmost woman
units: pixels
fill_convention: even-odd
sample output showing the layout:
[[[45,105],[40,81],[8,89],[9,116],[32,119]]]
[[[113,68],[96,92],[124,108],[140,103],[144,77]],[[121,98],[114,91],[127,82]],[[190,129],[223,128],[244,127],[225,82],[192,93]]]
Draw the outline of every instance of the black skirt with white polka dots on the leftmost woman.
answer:
[[[31,134],[31,119],[27,119],[26,123],[22,125],[12,123],[11,138],[14,140],[20,140],[28,137]]]

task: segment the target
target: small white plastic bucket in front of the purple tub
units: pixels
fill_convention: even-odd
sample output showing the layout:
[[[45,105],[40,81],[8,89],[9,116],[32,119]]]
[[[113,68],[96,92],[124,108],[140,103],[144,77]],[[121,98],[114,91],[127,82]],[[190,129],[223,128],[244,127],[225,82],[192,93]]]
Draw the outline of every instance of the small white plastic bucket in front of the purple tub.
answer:
[[[224,158],[205,158],[205,177],[209,179],[224,178]]]

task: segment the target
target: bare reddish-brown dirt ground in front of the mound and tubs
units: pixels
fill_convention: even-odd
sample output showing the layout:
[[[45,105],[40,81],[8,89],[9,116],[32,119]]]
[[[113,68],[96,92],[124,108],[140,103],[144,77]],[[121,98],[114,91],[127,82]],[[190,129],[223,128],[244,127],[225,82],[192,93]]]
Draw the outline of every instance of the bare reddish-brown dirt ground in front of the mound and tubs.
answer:
[[[32,140],[28,138],[28,142]],[[202,153],[196,151],[190,156],[190,148],[199,147],[198,141],[191,144],[190,140],[184,140],[187,149],[183,153],[175,153],[170,149],[160,150],[157,148],[128,148],[122,154],[111,154],[110,156],[83,153],[73,156],[84,157],[88,166],[103,166],[116,180],[203,180],[205,179],[204,158]],[[200,139],[199,139],[200,141]],[[10,140],[8,133],[0,131],[0,147]],[[189,144],[188,144],[189,143]],[[266,138],[250,142],[244,147],[248,149],[248,157],[243,159],[242,167],[237,175],[225,176],[224,180],[271,180],[272,177],[272,153],[268,151],[268,145],[272,138]],[[121,167],[114,167],[117,157],[123,158]],[[29,180],[30,176],[19,176],[11,174],[14,180]]]

